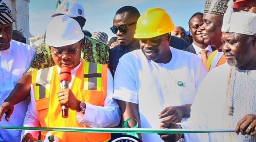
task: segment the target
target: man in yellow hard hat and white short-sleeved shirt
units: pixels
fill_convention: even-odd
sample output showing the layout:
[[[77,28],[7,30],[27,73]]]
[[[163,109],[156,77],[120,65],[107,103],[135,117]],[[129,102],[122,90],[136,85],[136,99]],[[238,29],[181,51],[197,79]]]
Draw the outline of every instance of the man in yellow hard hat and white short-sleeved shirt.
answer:
[[[190,116],[190,106],[207,70],[195,54],[169,46],[174,29],[161,8],[148,8],[136,23],[134,38],[141,50],[123,55],[114,77],[114,95],[122,118],[141,128],[159,128]],[[129,121],[134,127],[136,121]],[[143,142],[161,142],[166,135],[142,134]]]

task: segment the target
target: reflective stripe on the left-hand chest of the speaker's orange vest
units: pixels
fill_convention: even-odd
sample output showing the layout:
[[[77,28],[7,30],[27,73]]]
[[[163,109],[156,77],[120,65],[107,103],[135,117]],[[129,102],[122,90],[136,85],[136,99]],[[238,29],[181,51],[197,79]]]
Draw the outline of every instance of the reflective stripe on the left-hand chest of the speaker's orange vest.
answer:
[[[53,67],[41,69],[36,74],[35,99],[49,98]]]

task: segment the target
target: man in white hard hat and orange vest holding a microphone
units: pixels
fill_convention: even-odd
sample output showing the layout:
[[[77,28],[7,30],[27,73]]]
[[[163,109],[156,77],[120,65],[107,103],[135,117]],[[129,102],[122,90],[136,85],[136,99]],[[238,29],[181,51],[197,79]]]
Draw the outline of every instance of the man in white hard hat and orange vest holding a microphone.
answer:
[[[71,31],[72,30],[72,31]],[[31,103],[24,120],[30,127],[114,127],[120,122],[120,110],[113,101],[113,78],[107,65],[80,60],[83,33],[67,15],[55,17],[46,29],[46,44],[56,65],[34,70]],[[71,69],[68,89],[60,89],[60,69]],[[43,86],[43,87],[42,87]],[[63,118],[61,106],[67,105]],[[50,132],[60,142],[102,142],[108,133]],[[22,141],[46,139],[47,132],[23,131]]]

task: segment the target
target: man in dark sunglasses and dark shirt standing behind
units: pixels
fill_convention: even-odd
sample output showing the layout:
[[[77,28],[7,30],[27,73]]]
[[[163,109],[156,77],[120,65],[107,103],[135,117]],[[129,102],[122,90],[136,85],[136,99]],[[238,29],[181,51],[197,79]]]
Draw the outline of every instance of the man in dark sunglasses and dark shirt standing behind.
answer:
[[[139,40],[133,37],[139,16],[138,9],[132,6],[121,7],[115,13],[113,26],[110,29],[117,35],[120,44],[110,49],[109,68],[113,76],[122,55],[139,49]]]

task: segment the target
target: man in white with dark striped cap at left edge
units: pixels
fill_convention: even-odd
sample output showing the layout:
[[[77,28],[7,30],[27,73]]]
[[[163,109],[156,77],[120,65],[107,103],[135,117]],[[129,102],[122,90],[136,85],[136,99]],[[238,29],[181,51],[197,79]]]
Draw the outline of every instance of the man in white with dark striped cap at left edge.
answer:
[[[18,80],[29,69],[35,54],[35,50],[31,46],[11,40],[13,21],[10,8],[0,0],[0,104],[4,102]],[[29,99],[18,103],[15,106],[13,118],[1,121],[0,127],[22,126],[28,103]],[[3,117],[3,114],[0,117]],[[1,142],[15,142],[20,139],[20,136],[21,131],[0,130]]]

